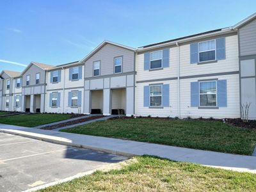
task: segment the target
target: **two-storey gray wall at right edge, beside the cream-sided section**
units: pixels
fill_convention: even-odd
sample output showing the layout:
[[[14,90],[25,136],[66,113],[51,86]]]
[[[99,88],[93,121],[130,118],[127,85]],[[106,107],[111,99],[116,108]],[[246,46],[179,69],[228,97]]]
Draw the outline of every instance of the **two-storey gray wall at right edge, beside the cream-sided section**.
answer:
[[[239,28],[241,100],[250,104],[248,116],[256,119],[256,19]]]

